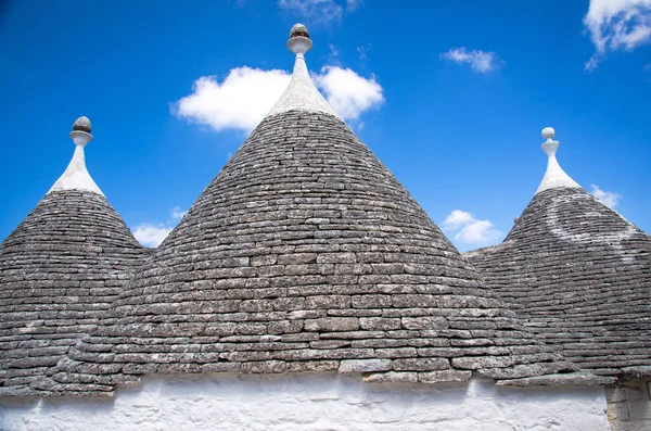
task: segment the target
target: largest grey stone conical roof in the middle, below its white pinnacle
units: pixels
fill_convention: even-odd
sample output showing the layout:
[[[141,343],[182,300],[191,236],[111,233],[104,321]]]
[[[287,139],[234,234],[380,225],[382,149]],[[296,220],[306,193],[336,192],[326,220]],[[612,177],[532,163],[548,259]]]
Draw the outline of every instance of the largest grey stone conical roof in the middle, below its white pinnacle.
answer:
[[[301,111],[263,121],[59,368],[105,392],[218,371],[611,381],[563,375],[577,367],[502,307],[355,134]]]

